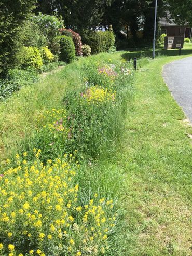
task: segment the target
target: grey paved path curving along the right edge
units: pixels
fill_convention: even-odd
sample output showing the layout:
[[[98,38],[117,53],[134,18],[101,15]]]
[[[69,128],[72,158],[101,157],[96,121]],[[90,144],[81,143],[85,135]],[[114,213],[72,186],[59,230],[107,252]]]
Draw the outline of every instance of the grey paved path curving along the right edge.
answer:
[[[192,57],[165,65],[162,76],[174,99],[192,122]]]

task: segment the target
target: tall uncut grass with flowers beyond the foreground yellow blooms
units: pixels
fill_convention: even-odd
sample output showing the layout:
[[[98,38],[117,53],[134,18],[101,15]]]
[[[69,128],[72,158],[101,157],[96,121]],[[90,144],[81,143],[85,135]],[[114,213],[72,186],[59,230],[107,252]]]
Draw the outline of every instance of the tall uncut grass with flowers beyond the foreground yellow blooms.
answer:
[[[133,79],[129,63],[117,53],[105,53],[80,58],[41,83],[22,88],[1,105],[2,160],[10,158],[16,165],[15,155],[26,151],[27,156],[20,154],[21,161],[33,164],[34,148],[41,150],[38,157],[44,164],[65,153],[75,154],[80,163],[74,178],[79,185],[78,204],[89,205],[95,194],[98,199],[113,200],[106,216],[113,216],[115,226],[107,232],[105,255],[126,254],[121,207],[124,176],[115,165],[115,151],[124,132]],[[102,239],[98,243],[95,246],[100,248]],[[93,253],[100,254],[99,250]]]

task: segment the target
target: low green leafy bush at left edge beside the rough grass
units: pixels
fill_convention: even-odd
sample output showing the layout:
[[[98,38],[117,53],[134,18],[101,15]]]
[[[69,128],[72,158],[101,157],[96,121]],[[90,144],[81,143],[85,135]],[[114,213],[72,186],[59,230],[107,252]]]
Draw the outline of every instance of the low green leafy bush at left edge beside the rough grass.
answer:
[[[9,70],[8,76],[0,80],[0,100],[4,100],[21,87],[37,82],[39,75],[33,68]]]

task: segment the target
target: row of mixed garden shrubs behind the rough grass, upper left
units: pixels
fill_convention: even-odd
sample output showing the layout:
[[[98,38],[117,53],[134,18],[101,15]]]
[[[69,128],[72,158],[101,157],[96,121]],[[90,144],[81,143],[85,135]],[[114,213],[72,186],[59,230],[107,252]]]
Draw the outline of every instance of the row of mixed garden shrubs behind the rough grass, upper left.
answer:
[[[31,15],[18,28],[15,48],[11,53],[12,63],[7,66],[7,71],[8,69],[23,70],[32,66],[42,72],[46,70],[45,65],[48,65],[49,68],[47,70],[50,70],[50,67],[57,66],[55,64],[51,65],[51,62],[62,61],[70,63],[75,60],[76,56],[90,56],[91,52],[112,52],[115,50],[114,43],[115,37],[112,31],[92,31],[89,33],[91,47],[82,45],[81,37],[78,33],[64,28],[62,18],[41,13]],[[10,79],[8,80],[10,82]],[[6,82],[1,80],[1,92],[5,92],[8,80]],[[26,77],[26,80],[28,80],[28,77]],[[17,86],[17,88],[20,88],[20,86]],[[15,85],[12,85],[11,89],[11,84],[9,83],[7,91],[16,91]],[[1,98],[5,98],[5,95],[10,95],[4,92],[0,94]]]

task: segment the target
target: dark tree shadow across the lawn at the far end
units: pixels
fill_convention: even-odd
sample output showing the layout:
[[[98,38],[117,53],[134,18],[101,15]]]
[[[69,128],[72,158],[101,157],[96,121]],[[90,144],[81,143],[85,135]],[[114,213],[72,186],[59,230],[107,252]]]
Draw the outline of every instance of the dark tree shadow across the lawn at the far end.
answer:
[[[182,49],[181,55],[192,55],[192,49]],[[179,49],[174,50],[164,50],[164,49],[157,49],[155,51],[156,56],[177,56],[179,55]],[[152,50],[130,50],[127,53],[121,55],[122,58],[126,60],[131,60],[134,57],[141,58],[141,57],[152,57]]]

